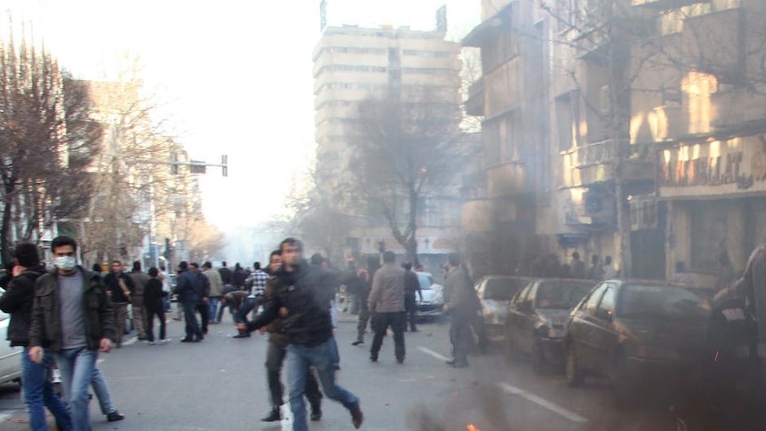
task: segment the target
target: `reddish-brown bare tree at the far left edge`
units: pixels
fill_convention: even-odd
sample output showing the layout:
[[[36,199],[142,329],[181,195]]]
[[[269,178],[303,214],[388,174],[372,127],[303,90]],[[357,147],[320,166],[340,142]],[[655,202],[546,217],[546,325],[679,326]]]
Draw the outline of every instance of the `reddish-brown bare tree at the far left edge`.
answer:
[[[50,53],[22,40],[0,47],[0,164],[4,260],[14,239],[38,240],[57,219],[81,217],[98,153],[89,94]]]

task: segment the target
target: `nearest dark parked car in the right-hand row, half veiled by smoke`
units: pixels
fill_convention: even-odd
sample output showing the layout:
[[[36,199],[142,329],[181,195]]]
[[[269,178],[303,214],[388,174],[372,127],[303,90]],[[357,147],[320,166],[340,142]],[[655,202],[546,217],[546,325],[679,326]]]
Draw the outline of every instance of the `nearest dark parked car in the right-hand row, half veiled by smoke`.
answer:
[[[670,389],[668,378],[689,378],[703,357],[709,314],[708,301],[684,286],[600,283],[571,314],[564,340],[567,382],[576,387],[586,374],[603,375],[623,400],[654,378]]]

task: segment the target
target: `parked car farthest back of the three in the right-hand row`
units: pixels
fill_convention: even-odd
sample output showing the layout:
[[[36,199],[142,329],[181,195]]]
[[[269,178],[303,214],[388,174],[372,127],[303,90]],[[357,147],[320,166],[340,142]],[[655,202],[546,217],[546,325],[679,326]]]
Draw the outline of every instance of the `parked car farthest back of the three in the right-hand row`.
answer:
[[[505,336],[506,316],[511,299],[531,281],[528,277],[485,275],[475,283],[476,295],[482,302],[482,320],[488,337]]]

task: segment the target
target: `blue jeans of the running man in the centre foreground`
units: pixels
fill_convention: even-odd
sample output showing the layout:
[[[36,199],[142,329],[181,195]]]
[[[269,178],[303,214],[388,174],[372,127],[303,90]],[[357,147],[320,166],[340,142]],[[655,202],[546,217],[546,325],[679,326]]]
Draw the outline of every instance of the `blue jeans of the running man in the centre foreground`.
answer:
[[[306,403],[303,401],[303,394],[306,392],[306,376],[312,366],[322,384],[324,395],[343,404],[348,411],[354,409],[359,403],[359,398],[335,383],[335,367],[332,365],[330,342],[328,340],[315,347],[297,344],[291,344],[287,347],[287,381],[290,386],[293,431],[308,430]]]

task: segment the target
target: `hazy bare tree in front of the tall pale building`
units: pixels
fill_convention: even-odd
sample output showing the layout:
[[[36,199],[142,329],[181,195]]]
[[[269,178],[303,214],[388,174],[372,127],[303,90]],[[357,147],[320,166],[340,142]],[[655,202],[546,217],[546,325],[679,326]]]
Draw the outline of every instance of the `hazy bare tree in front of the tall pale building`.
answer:
[[[436,90],[411,90],[406,101],[392,86],[364,100],[352,145],[347,202],[363,197],[371,215],[382,216],[391,234],[417,262],[420,204],[451,185],[472,151],[461,139],[459,104]]]

